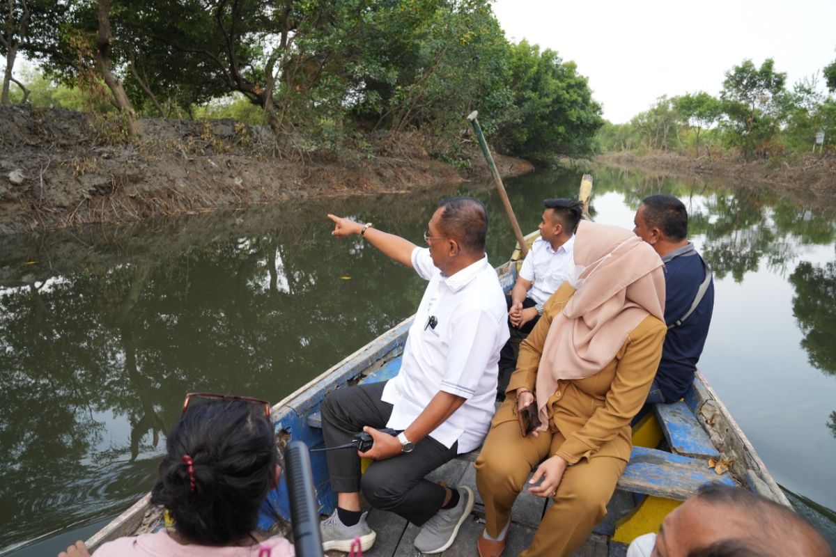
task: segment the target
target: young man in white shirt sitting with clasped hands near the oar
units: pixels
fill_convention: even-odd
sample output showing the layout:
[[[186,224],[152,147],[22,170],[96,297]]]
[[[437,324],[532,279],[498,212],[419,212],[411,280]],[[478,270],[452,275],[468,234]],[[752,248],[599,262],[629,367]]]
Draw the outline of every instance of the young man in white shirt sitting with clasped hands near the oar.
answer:
[[[502,347],[499,358],[499,400],[505,399],[505,388],[517,367],[519,343],[543,315],[543,304],[566,280],[572,264],[574,231],[584,215],[584,205],[576,200],[543,200],[543,206],[540,237],[525,256],[511,295],[505,296],[511,338]]]

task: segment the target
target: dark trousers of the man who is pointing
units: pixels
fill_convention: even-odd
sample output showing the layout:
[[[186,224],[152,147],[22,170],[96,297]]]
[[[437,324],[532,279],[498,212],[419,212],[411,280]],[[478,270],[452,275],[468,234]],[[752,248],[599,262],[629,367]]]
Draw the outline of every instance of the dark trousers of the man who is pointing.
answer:
[[[322,403],[322,433],[326,447],[350,443],[363,426],[384,428],[392,405],[380,400],[386,382],[364,383],[330,392]],[[410,453],[376,460],[360,476],[360,458],[350,449],[325,453],[334,493],[363,492],[369,503],[399,514],[421,526],[444,503],[445,489],[425,479],[426,474],[456,458],[458,442],[446,448],[426,437]]]

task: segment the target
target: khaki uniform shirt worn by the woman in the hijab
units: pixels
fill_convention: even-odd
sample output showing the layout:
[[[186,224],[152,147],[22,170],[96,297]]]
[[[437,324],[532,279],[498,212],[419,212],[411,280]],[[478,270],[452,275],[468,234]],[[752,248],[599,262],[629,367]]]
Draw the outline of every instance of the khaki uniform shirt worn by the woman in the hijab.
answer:
[[[548,327],[573,293],[572,286],[563,283],[548,299],[543,317],[520,345],[517,371],[507,388],[511,397],[520,387],[535,391]],[[613,361],[600,372],[584,379],[558,382],[557,390],[548,399],[548,420],[550,430],[562,434],[565,441],[554,454],[569,464],[594,456],[630,460],[630,420],[639,412],[650,391],[666,331],[664,322],[647,316],[627,335]],[[502,405],[493,424],[516,420],[516,406]]]

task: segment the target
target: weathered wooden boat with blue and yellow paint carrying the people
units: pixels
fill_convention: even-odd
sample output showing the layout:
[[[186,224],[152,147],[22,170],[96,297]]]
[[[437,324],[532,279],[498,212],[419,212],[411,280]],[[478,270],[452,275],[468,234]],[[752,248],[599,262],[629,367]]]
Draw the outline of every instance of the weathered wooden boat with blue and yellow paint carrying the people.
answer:
[[[584,176],[581,190],[589,191],[591,181],[591,177]],[[530,244],[537,235],[537,232],[532,233],[526,240]],[[516,281],[519,260],[517,250],[510,261],[497,267],[497,276],[506,291]],[[308,448],[324,447],[319,406],[325,395],[358,382],[394,377],[400,369],[412,319],[400,322],[276,404],[272,417],[277,443],[283,446],[290,440],[301,440]],[[654,413],[636,424],[633,442],[630,463],[619,479],[608,515],[579,553],[623,555],[626,544],[640,534],[657,531],[665,514],[706,482],[741,485],[790,506],[701,372],[696,373],[684,400],[657,405]],[[462,526],[456,542],[444,552],[446,555],[477,554],[476,539],[482,531],[479,519],[484,516],[484,507],[471,465],[476,453],[478,451],[460,455],[432,474],[432,479],[448,484],[469,484],[477,494],[474,519]],[[330,489],[324,453],[312,453],[311,461],[319,511],[327,515],[334,510],[336,496]],[[284,519],[290,519],[288,491],[283,482],[271,492],[268,503],[278,509]],[[512,509],[514,524],[506,554],[518,554],[528,546],[548,504],[548,500],[525,492],[520,495]],[[377,532],[377,540],[365,554],[387,557],[404,552],[415,554],[412,542],[419,531],[415,525],[377,509],[372,510],[369,521]],[[275,528],[272,523],[268,514],[264,514],[260,525],[263,529]],[[151,531],[161,525],[161,509],[150,504],[148,494],[89,539],[87,545],[92,550],[110,539]]]

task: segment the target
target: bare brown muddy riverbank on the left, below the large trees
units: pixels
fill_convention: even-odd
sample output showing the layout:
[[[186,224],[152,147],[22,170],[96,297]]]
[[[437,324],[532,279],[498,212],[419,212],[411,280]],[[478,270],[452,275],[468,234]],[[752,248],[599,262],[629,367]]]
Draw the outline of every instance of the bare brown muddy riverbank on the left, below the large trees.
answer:
[[[470,168],[456,170],[418,134],[380,134],[356,149],[312,153],[302,138],[277,145],[266,127],[233,120],[145,119],[142,126],[142,139],[129,140],[114,123],[83,113],[0,107],[0,234],[426,191],[489,176],[472,141],[462,145]],[[501,155],[497,167],[506,176],[533,170]]]

